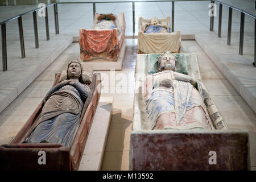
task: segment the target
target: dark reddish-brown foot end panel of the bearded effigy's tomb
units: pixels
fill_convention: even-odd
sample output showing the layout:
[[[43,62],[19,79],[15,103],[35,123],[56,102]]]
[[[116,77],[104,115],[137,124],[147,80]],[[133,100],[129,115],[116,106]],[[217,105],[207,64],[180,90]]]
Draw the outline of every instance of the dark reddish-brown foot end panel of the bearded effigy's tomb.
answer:
[[[210,163],[214,155],[216,163]],[[130,170],[250,170],[249,134],[230,130],[133,131]]]

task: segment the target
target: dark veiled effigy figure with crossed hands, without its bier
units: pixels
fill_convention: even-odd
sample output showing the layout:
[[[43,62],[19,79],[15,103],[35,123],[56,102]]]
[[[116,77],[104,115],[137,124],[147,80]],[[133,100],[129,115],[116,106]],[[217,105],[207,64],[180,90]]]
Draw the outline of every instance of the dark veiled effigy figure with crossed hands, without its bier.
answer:
[[[82,79],[79,61],[68,64],[67,79],[55,85],[24,143],[60,143],[70,147],[80,125],[82,108],[91,92]]]

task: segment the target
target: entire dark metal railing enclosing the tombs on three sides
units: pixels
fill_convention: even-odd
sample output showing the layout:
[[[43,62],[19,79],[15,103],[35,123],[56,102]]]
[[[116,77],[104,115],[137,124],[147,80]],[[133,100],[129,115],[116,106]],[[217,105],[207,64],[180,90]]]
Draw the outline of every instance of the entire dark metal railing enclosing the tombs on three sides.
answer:
[[[172,4],[172,20],[171,20],[171,30],[174,32],[174,4],[175,1],[207,1],[207,0],[162,0],[162,1],[109,1],[109,2],[57,2],[59,4],[68,4],[68,3],[91,3],[93,5],[93,17],[94,14],[96,13],[96,3],[132,3],[132,9],[133,9],[133,36],[135,34],[135,3],[139,2],[171,2]],[[213,0],[210,0],[210,2],[214,3]],[[244,34],[244,24],[245,24],[245,14],[249,15],[254,18],[255,20],[255,28],[254,28],[254,34],[256,32],[256,17],[246,13],[245,11],[239,10],[236,7],[226,5],[225,3],[222,3],[220,1],[217,1],[220,3],[220,10],[219,10],[219,22],[218,22],[218,37],[221,37],[221,20],[222,20],[222,5],[228,6],[229,7],[229,22],[228,22],[228,45],[230,45],[230,40],[231,40],[231,29],[232,29],[232,10],[235,9],[237,11],[241,12],[241,27],[240,27],[240,50],[239,53],[240,55],[243,54],[243,34]],[[33,20],[34,20],[34,33],[35,33],[35,47],[39,47],[39,42],[38,42],[38,26],[37,26],[37,20],[36,20],[36,11],[41,10],[41,9],[46,9],[46,37],[47,40],[49,40],[49,25],[48,25],[48,11],[47,7],[49,6],[54,6],[54,17],[55,17],[55,32],[56,34],[59,34],[59,20],[58,20],[58,11],[57,11],[57,3],[51,3],[49,5],[46,5],[45,7],[40,7],[38,9],[28,11],[27,13],[20,14],[18,16],[15,16],[14,18],[10,18],[8,20],[5,20],[4,22],[1,22],[1,30],[2,30],[2,63],[3,63],[3,71],[7,71],[7,52],[6,52],[6,23],[10,22],[14,19],[18,18],[18,24],[19,24],[19,37],[20,37],[20,49],[21,49],[21,55],[22,58],[25,57],[25,48],[24,48],[24,38],[23,38],[23,26],[22,26],[22,16],[26,14],[33,14]],[[214,22],[214,16],[210,17],[210,31],[213,31],[213,23]],[[256,44],[256,39],[254,36],[254,66],[256,67],[256,49],[255,49],[255,44]]]

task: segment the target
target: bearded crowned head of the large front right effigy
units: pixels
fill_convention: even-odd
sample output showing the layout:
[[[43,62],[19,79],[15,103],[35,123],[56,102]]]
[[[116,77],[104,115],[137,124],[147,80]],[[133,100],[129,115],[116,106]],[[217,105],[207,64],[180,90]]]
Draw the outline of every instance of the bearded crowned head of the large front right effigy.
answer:
[[[177,69],[177,60],[174,54],[167,51],[158,57],[158,69],[162,71],[163,69],[169,69],[176,71]]]

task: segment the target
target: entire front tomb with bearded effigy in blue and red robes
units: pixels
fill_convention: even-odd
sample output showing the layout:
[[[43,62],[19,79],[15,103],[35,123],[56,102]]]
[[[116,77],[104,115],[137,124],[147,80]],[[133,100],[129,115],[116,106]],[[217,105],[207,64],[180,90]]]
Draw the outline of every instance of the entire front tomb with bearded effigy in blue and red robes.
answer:
[[[136,64],[131,170],[250,169],[249,134],[226,126],[196,54],[140,54]]]

